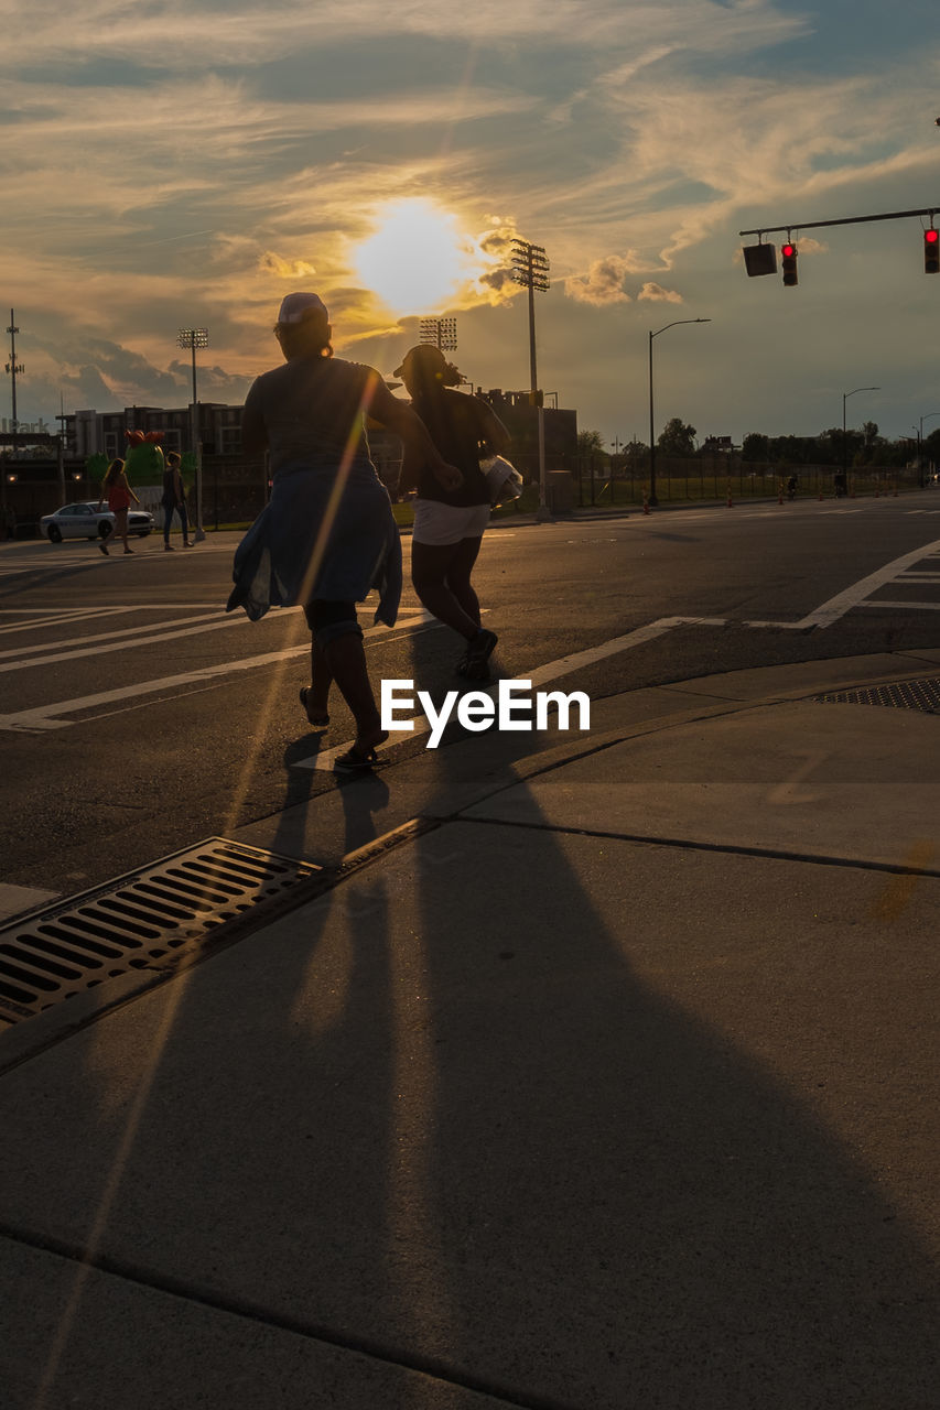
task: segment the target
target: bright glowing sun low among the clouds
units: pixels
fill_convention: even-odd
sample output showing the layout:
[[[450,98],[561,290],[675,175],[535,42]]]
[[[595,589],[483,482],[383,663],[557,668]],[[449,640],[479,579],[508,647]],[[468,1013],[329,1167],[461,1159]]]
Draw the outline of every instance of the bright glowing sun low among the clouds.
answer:
[[[473,275],[471,241],[429,200],[401,200],[353,252],[356,275],[398,317],[446,307]]]

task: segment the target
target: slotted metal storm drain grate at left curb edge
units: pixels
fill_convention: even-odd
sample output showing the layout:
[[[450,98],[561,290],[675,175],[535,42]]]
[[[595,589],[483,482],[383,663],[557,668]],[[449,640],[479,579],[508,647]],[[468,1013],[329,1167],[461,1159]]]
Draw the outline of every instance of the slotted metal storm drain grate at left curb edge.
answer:
[[[0,929],[0,1019],[14,1024],[147,970],[298,881],[306,862],[207,838]]]

